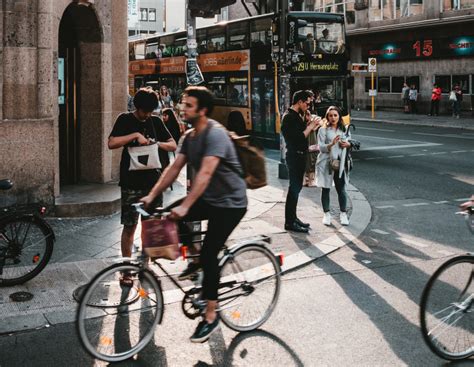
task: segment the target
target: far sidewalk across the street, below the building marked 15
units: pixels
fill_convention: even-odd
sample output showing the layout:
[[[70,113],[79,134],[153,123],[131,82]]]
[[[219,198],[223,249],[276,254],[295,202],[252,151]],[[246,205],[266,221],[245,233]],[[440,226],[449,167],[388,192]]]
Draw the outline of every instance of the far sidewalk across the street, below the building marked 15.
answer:
[[[352,110],[351,120],[373,121],[387,124],[449,127],[465,130],[474,130],[474,116],[471,112],[463,112],[461,118],[456,119],[451,115],[427,116],[422,114],[408,114],[403,112],[375,111],[375,119],[372,120],[372,112],[368,110]]]

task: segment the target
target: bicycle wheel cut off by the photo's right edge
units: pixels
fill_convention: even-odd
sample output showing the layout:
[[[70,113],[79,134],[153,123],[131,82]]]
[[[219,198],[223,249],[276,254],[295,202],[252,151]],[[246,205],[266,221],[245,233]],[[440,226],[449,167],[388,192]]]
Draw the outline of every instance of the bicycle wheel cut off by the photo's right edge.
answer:
[[[448,260],[431,276],[423,291],[420,323],[430,349],[447,360],[474,354],[474,257]]]

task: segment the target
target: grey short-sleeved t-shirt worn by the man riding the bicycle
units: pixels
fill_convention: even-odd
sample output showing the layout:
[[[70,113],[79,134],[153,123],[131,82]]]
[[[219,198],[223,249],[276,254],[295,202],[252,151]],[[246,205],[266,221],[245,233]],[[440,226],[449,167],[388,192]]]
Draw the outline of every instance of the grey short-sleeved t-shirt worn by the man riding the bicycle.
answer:
[[[212,126],[211,126],[212,125]],[[181,140],[179,152],[184,154],[197,172],[204,157],[219,157],[219,165],[204,191],[203,200],[219,208],[246,208],[247,191],[244,179],[235,172],[241,170],[237,152],[226,129],[214,120],[199,134],[191,131]],[[224,163],[226,162],[226,163]],[[230,168],[229,165],[235,167]]]

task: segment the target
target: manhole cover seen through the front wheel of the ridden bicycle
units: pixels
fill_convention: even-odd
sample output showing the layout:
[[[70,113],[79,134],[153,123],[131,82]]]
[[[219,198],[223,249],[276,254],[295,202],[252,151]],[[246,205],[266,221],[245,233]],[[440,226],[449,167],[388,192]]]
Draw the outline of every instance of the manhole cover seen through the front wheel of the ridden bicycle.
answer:
[[[80,302],[88,284],[84,284],[73,292],[73,297],[77,302]],[[117,307],[121,305],[128,305],[134,302],[138,297],[138,288],[124,287],[120,282],[110,281],[100,283],[94,290],[94,294],[89,299],[87,304],[93,307]]]

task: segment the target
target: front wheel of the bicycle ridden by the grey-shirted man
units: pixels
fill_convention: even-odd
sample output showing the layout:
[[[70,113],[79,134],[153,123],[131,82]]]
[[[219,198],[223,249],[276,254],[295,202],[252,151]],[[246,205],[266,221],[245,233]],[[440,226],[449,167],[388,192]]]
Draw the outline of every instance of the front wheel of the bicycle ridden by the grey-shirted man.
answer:
[[[131,282],[124,284],[127,276]],[[89,283],[77,313],[85,349],[107,362],[128,359],[152,339],[163,316],[163,295],[154,275],[133,264],[116,264]]]

